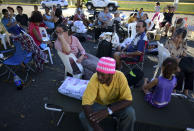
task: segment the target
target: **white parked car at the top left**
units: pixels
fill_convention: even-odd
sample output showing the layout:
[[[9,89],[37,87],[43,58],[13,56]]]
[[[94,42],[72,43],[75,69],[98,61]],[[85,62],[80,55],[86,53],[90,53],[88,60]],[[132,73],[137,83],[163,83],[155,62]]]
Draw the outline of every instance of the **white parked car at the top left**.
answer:
[[[53,5],[56,5],[57,8],[67,8],[68,7],[68,2],[66,0],[44,0],[41,2],[42,8],[45,7],[52,7]]]

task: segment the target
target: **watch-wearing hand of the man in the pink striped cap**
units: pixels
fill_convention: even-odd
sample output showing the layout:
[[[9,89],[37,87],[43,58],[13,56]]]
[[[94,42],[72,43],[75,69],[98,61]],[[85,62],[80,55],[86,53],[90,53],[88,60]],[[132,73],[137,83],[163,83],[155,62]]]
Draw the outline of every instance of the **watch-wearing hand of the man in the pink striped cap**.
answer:
[[[106,109],[100,110],[98,112],[93,112],[89,114],[89,120],[95,123],[99,123],[108,116],[108,111]]]

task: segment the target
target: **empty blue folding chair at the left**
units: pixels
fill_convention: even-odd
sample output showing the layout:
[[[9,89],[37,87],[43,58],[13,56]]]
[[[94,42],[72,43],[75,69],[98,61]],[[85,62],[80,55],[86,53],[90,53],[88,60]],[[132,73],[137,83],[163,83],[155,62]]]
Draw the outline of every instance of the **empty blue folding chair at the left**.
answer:
[[[0,63],[5,65],[6,69],[9,71],[9,76],[11,73],[16,74],[11,69],[11,67],[21,66],[21,64],[24,64],[25,68],[26,68],[26,76],[25,76],[25,80],[24,81],[22,80],[22,81],[25,82],[25,81],[27,81],[29,72],[30,71],[34,72],[34,70],[29,66],[29,63],[32,61],[32,53],[23,50],[20,42],[13,41],[13,44],[15,46],[15,53],[13,54],[13,56],[11,56],[5,60],[1,59]]]

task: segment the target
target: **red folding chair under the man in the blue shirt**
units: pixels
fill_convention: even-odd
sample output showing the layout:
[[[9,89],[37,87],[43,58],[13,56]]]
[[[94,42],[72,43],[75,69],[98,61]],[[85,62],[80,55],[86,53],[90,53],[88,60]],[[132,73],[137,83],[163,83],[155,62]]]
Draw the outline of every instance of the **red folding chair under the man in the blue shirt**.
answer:
[[[148,45],[148,41],[145,42],[145,47],[144,47],[144,51],[143,53],[140,55],[139,61],[137,62],[127,62],[127,61],[122,61],[122,63],[129,68],[130,70],[132,70],[133,68],[137,67],[140,70],[143,71],[143,65],[144,65],[144,54],[145,54],[145,49],[147,48]],[[135,56],[136,57],[136,56]]]

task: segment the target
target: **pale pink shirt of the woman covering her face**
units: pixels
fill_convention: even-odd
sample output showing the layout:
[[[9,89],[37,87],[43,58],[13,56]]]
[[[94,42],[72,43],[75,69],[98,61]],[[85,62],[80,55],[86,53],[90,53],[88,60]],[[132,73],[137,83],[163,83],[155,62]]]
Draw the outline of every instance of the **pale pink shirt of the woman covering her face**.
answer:
[[[72,36],[71,38],[72,38],[71,40],[72,42],[70,43],[71,53],[73,53],[75,56],[77,56],[79,52],[81,53],[81,55],[85,55],[86,52],[82,47],[81,43],[79,42],[79,40],[77,39],[77,37]],[[55,41],[55,49],[62,52],[61,42],[58,39]]]

